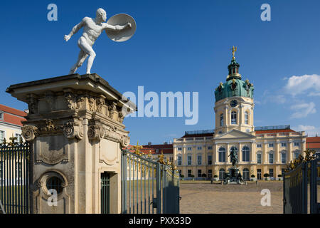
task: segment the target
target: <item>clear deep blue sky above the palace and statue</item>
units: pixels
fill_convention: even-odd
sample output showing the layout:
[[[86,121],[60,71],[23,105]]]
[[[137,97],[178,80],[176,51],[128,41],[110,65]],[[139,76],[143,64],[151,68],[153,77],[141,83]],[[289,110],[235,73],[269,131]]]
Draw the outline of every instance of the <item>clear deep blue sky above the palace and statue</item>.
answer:
[[[58,6],[48,21],[47,6]],[[271,21],[260,6],[271,6]],[[102,33],[93,46],[92,73],[124,93],[198,92],[199,119],[125,118],[131,143],[163,143],[185,130],[214,128],[214,90],[224,82],[237,46],[242,79],[255,86],[255,125],[285,125],[320,133],[320,1],[1,1],[1,103],[26,109],[5,93],[11,84],[68,74],[78,57],[79,31],[68,34],[97,8],[107,18],[126,13],[137,22],[135,35],[116,43]],[[85,66],[78,73],[85,73]]]

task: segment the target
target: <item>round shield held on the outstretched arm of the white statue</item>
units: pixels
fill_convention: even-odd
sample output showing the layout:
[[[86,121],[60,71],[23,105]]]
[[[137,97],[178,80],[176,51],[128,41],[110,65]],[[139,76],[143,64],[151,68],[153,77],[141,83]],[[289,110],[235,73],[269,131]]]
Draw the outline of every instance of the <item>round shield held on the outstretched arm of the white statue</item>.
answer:
[[[107,24],[110,24],[111,26],[124,26],[127,23],[131,24],[131,28],[124,28],[122,30],[113,31],[112,29],[106,29],[105,33],[107,33],[107,36],[112,40],[116,42],[123,42],[129,40],[129,38],[132,38],[134,35],[134,32],[136,31],[136,21],[132,18],[132,16],[129,16],[128,14],[117,14],[112,16],[108,21]]]

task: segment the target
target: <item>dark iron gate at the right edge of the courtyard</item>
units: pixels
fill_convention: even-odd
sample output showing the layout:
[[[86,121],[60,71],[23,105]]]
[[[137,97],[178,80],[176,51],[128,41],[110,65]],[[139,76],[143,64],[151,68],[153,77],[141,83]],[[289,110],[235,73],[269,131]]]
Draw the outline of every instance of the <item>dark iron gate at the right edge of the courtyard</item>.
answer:
[[[320,213],[317,187],[320,185],[320,158],[302,162],[294,170],[284,173],[283,212],[284,214],[308,213],[308,182],[310,187],[310,213]]]

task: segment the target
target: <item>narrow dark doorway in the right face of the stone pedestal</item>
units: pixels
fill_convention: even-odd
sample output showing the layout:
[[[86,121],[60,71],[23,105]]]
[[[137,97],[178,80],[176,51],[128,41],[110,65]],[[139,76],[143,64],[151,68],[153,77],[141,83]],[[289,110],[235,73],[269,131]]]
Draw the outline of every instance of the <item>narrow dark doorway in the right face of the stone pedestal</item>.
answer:
[[[110,214],[110,173],[101,174],[101,214]]]

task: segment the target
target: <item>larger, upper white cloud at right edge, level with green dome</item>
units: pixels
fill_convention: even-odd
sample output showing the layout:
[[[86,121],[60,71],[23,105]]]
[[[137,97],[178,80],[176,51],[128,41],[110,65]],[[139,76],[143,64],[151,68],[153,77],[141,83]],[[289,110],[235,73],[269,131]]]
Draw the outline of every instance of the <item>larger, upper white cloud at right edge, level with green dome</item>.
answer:
[[[287,85],[284,86],[287,93],[291,95],[298,95],[307,93],[308,95],[320,95],[320,76],[304,75],[304,76],[291,76]]]

